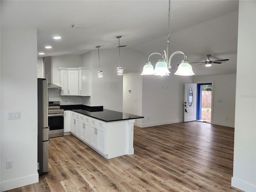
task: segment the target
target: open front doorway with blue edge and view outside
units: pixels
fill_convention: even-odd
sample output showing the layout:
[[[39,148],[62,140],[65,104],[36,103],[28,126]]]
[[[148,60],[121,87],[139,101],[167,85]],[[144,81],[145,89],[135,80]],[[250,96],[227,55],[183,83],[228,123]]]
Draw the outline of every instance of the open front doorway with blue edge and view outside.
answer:
[[[212,83],[197,84],[197,121],[211,123],[212,93]]]

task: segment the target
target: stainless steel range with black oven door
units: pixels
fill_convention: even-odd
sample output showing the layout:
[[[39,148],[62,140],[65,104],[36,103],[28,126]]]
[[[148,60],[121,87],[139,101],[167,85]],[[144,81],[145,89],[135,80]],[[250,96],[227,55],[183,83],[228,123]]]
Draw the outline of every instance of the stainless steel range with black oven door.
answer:
[[[59,101],[49,101],[48,127],[49,138],[64,135],[64,110],[60,108]]]

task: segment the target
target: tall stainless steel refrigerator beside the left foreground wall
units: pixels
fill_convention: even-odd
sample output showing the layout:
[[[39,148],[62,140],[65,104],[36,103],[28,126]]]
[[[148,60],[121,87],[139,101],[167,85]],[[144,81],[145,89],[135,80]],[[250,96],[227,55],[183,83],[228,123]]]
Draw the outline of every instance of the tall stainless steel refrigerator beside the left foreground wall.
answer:
[[[38,78],[38,174],[48,172],[48,90],[47,79]]]

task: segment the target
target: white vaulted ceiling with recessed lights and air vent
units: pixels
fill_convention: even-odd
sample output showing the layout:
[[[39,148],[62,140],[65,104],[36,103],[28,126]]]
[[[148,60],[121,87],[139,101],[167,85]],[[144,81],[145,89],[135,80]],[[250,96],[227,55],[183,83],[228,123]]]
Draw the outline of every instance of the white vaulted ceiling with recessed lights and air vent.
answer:
[[[1,28],[36,28],[38,52],[44,56],[116,48],[116,36],[122,36],[121,45],[147,56],[161,53],[167,26],[168,0],[1,0]],[[203,62],[206,54],[212,55],[210,60],[230,59],[211,67],[192,64],[196,76],[236,73],[237,30],[236,0],[171,1],[170,54],[185,52],[189,62]],[[55,35],[62,39],[53,40]],[[46,50],[47,45],[52,49]]]

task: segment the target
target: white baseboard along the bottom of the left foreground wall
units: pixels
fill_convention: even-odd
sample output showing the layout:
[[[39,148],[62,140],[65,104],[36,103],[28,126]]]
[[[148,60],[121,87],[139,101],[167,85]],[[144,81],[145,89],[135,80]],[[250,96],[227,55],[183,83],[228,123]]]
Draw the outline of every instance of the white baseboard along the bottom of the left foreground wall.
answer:
[[[11,189],[15,189],[18,187],[22,187],[22,186],[26,186],[26,185],[30,185],[33,183],[38,183],[39,182],[39,175],[34,174],[34,175],[29,175],[26,177],[22,177],[22,178],[16,178],[13,180],[8,180],[8,181],[4,181],[1,182],[1,192],[2,191],[7,191],[7,190],[11,190]]]

